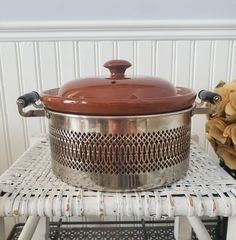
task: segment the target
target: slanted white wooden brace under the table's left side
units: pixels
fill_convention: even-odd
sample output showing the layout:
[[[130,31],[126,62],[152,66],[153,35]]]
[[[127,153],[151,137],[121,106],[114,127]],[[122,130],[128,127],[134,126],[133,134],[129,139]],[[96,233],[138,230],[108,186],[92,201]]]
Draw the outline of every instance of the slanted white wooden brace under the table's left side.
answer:
[[[18,240],[31,240],[38,225],[39,219],[40,217],[29,216]]]

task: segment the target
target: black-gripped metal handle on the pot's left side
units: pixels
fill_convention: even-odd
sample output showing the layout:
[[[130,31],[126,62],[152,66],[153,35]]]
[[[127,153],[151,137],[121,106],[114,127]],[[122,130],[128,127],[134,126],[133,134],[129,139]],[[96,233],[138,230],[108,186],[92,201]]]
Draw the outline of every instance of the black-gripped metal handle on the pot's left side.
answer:
[[[44,106],[39,102],[39,94],[35,91],[26,93],[20,96],[16,103],[18,106],[18,111],[21,116],[23,117],[44,117],[46,116],[46,112]],[[33,105],[36,109],[35,110],[28,110],[24,111],[24,108]]]

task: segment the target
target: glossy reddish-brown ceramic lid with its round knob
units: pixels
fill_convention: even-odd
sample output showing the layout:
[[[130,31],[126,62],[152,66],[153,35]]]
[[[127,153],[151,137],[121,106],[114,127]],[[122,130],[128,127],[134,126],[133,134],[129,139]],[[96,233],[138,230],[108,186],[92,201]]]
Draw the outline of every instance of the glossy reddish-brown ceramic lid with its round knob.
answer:
[[[108,77],[74,80],[59,90],[45,91],[41,100],[51,110],[85,115],[144,115],[182,110],[196,97],[191,89],[176,88],[156,77],[131,77],[131,64],[111,60],[104,64]]]

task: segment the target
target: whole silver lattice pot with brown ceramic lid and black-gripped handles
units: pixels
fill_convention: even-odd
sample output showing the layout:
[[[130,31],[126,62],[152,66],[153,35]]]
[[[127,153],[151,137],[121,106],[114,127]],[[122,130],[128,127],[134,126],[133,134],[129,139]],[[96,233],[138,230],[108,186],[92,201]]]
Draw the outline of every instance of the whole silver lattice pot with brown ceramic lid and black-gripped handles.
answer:
[[[199,107],[191,89],[126,76],[127,61],[104,66],[108,77],[71,81],[17,100],[22,116],[49,120],[54,174],[100,191],[146,190],[180,179],[188,169],[191,117],[210,110]],[[216,105],[221,100],[205,90],[199,98]],[[37,109],[25,111],[31,104]]]

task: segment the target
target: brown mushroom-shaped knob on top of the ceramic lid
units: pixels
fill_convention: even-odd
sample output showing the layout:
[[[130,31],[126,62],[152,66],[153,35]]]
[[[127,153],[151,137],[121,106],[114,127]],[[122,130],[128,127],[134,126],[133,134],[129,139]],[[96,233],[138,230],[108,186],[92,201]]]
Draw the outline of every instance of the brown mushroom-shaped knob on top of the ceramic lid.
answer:
[[[108,68],[111,73],[111,78],[124,78],[125,70],[131,67],[131,63],[126,60],[110,60],[103,65]]]

